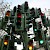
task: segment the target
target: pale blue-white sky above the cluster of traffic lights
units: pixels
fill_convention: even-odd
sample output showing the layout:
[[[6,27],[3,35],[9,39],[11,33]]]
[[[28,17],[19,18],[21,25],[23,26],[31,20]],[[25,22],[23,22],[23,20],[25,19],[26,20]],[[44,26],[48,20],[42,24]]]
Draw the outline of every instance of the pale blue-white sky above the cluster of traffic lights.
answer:
[[[42,10],[50,9],[50,0],[4,0],[5,2],[12,2],[11,9],[18,4],[23,4],[25,1],[28,1],[29,7],[32,8],[41,8]]]

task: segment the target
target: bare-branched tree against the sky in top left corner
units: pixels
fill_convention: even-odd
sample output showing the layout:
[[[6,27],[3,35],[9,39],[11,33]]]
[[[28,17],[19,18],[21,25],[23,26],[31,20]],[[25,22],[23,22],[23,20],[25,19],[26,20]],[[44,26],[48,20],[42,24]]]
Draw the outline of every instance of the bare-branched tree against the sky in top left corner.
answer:
[[[4,2],[4,0],[1,0],[0,2],[0,17],[5,16],[5,11],[10,9],[10,4],[8,2]]]

